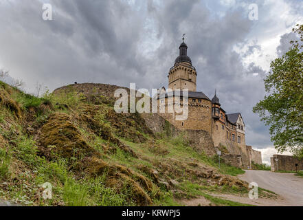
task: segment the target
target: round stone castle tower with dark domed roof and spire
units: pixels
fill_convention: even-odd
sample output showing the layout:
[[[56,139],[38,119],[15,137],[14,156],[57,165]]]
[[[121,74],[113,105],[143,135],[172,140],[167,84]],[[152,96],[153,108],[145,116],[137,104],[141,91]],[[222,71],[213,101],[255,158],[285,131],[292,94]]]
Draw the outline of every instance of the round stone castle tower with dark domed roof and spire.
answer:
[[[179,50],[180,54],[175,60],[175,65],[170,68],[168,74],[168,88],[197,91],[197,72],[188,56],[188,45],[184,43],[184,38]]]

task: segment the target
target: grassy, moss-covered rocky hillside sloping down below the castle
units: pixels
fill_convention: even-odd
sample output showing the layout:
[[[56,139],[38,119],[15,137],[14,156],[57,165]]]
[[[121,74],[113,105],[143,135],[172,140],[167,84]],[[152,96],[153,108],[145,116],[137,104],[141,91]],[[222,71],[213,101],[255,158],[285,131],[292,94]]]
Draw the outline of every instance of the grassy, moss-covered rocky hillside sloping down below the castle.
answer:
[[[174,206],[205,197],[207,205],[241,205],[210,194],[247,193],[247,183],[235,177],[243,170],[224,163],[218,169],[216,158],[182,133],[172,135],[165,120],[155,132],[144,115],[115,113],[115,89],[71,85],[36,98],[0,82],[0,199],[34,206]],[[42,197],[46,182],[52,199]]]

